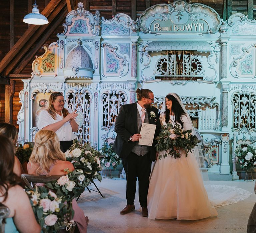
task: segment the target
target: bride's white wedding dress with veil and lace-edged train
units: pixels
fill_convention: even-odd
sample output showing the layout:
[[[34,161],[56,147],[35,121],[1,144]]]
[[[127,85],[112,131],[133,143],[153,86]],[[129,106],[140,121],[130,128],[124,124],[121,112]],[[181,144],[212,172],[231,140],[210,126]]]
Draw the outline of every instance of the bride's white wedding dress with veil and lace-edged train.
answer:
[[[176,98],[185,112],[181,117],[183,129],[191,129],[192,134],[196,135],[179,96],[175,93],[169,95]],[[161,109],[160,121],[166,125],[165,104]],[[169,122],[175,125],[174,116],[170,116]],[[218,214],[214,207],[233,204],[251,195],[251,192],[236,186],[211,184],[200,147],[196,146],[187,157],[182,150],[181,158],[170,155],[163,158],[165,153],[159,152],[162,159],[157,158],[151,169],[147,199],[150,219],[197,220],[216,216]]]

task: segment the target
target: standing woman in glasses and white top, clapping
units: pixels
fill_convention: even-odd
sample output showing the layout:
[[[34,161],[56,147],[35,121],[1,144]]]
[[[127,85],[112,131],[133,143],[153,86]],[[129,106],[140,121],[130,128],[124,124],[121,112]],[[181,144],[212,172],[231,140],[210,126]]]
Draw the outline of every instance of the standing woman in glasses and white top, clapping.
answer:
[[[40,113],[37,127],[56,132],[60,140],[60,148],[66,152],[76,138],[73,132],[78,129],[75,121],[76,112],[64,108],[66,100],[60,92],[53,92],[49,98],[49,108]]]

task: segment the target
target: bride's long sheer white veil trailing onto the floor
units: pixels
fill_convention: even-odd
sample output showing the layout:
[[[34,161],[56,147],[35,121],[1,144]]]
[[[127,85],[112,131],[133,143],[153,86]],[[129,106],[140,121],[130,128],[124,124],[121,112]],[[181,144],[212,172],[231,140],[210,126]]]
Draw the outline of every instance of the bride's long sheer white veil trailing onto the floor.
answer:
[[[188,121],[192,128],[192,134],[197,135],[197,132],[196,132],[195,128],[193,127],[191,118],[188,115],[188,112],[185,109],[184,104],[182,103],[180,97],[176,93],[169,93],[167,95],[172,95],[178,101],[178,103],[182,107],[183,111],[185,112],[186,117],[188,118]],[[160,111],[160,121],[162,120],[165,122],[165,112],[166,112],[166,105],[165,105],[165,100],[164,100],[161,111]],[[195,156],[197,164],[199,166],[200,173],[202,175],[204,186],[206,188],[208,198],[210,200],[211,205],[213,205],[215,207],[229,205],[229,204],[233,204],[238,201],[244,200],[249,195],[251,195],[251,192],[241,189],[241,188],[237,188],[236,186],[212,184],[212,182],[209,181],[209,176],[208,176],[207,168],[205,165],[204,156],[203,156],[201,146],[197,145],[192,150],[192,154]]]

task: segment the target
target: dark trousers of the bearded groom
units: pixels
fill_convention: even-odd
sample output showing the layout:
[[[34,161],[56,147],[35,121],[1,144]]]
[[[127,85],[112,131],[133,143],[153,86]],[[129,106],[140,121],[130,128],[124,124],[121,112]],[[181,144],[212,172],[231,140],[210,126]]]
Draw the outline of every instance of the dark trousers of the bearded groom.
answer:
[[[127,204],[134,203],[137,177],[139,180],[139,201],[141,207],[147,207],[149,176],[151,171],[150,152],[143,156],[131,152],[126,158],[122,158],[122,164],[126,174],[126,200]]]

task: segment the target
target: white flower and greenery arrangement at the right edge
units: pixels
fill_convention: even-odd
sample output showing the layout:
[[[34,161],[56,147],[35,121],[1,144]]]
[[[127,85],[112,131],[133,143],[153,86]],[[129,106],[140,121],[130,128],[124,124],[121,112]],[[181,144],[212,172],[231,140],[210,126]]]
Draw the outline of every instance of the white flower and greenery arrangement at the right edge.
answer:
[[[252,168],[256,166],[256,146],[246,145],[236,149],[236,163],[242,168]]]

